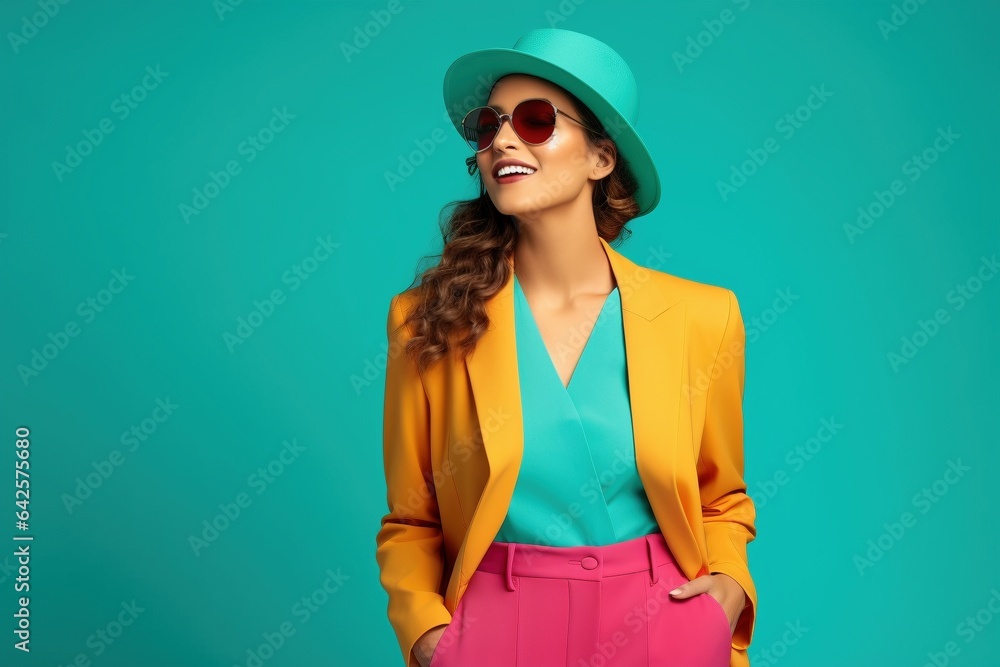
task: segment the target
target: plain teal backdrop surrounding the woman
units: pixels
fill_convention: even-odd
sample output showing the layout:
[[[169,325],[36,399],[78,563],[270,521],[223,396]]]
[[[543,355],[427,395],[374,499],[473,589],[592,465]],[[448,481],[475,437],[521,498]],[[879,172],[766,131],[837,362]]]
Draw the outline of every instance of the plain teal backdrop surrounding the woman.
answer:
[[[915,13],[883,34],[902,4]],[[0,663],[247,665],[287,623],[294,634],[261,664],[401,664],[374,559],[389,300],[440,248],[441,207],[476,192],[444,118],[445,70],[553,25],[608,42],[639,82],[664,191],[620,251],[740,300],[752,664],[942,664],[949,642],[947,664],[997,664],[1000,280],[983,269],[994,279],[960,310],[948,297],[1000,246],[997,2],[564,0],[470,14],[401,0],[349,58],[341,44],[387,2],[73,0],[12,43],[43,5],[0,3]],[[725,9],[732,21],[678,67],[673,54]],[[157,65],[162,81],[122,118],[114,101]],[[776,128],[824,85],[792,136]],[[294,118],[249,161],[241,142],[273,109]],[[60,179],[53,162],[103,118],[113,131]],[[910,181],[904,163],[948,127],[960,138]],[[720,195],[769,137],[779,150]],[[239,173],[185,222],[180,205],[229,161]],[[852,243],[844,225],[894,179],[905,193]],[[295,283],[286,272],[318,238],[339,247]],[[123,268],[127,286],[102,293]],[[227,346],[274,290],[282,302]],[[794,297],[781,313],[779,291]],[[87,298],[106,305],[90,314]],[[938,309],[947,322],[894,369],[887,355]],[[22,377],[70,323],[78,335]],[[177,406],[162,422],[157,400]],[[824,419],[842,427],[828,437]],[[144,420],[130,451],[122,435]],[[12,646],[18,426],[32,443],[30,654]],[[819,437],[808,460],[796,453]],[[276,463],[292,440],[298,454]],[[968,471],[921,504],[949,461]],[[264,482],[269,464],[280,472]],[[95,465],[113,471],[67,508]],[[238,498],[248,506],[196,553],[191,536]],[[862,568],[869,540],[886,548]],[[336,592],[317,593],[328,571]],[[133,600],[131,625],[96,639]],[[960,625],[980,610],[979,630]]]

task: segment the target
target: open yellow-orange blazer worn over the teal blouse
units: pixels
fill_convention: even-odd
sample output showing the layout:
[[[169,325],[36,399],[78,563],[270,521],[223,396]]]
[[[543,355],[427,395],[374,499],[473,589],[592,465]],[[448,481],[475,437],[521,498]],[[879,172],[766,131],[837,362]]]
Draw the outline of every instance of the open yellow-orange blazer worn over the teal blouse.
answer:
[[[621,297],[639,477],[684,575],[724,572],[746,592],[730,667],[748,667],[757,593],[747,544],[756,529],[743,480],[745,330],[736,296],[601,245]],[[376,536],[389,622],[407,667],[419,665],[420,635],[451,621],[497,535],[524,444],[513,279],[486,302],[490,327],[473,353],[464,361],[446,355],[423,373],[403,353],[412,331],[401,325],[416,289],[389,307],[389,512]]]

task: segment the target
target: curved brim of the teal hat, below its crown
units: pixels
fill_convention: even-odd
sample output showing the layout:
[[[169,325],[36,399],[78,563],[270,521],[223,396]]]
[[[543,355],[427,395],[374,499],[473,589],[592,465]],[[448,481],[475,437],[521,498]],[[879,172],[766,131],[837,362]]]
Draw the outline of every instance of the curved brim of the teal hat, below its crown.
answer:
[[[507,74],[530,74],[546,79],[576,95],[597,114],[608,135],[618,146],[639,187],[636,217],[652,211],[660,201],[660,178],[653,156],[639,134],[621,112],[603,95],[566,70],[515,49],[486,49],[468,53],[451,64],[444,76],[444,102],[455,130],[462,135],[462,120],[476,106],[486,104],[493,84]]]

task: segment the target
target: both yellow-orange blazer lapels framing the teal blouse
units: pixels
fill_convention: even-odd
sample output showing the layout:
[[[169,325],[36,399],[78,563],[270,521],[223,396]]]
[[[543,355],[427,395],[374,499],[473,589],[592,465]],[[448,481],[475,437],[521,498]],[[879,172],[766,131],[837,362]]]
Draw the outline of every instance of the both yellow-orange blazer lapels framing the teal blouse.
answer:
[[[622,302],[628,363],[636,466],[647,489],[671,551],[689,577],[691,564],[700,562],[697,542],[682,508],[675,475],[679,449],[690,450],[690,432],[682,434],[681,410],[689,404],[680,391],[685,356],[685,308],[676,295],[666,293],[651,271],[615,251],[603,238]],[[513,260],[509,260],[513,266]],[[507,515],[524,450],[520,383],[514,331],[514,284],[486,302],[490,326],[467,358],[469,379],[479,423],[489,479],[459,550],[446,600],[457,605],[469,578]],[[489,424],[490,428],[486,428]],[[686,436],[686,440],[681,440]],[[670,494],[669,497],[667,494]],[[697,508],[689,508],[691,510]],[[454,609],[454,606],[451,607]]]

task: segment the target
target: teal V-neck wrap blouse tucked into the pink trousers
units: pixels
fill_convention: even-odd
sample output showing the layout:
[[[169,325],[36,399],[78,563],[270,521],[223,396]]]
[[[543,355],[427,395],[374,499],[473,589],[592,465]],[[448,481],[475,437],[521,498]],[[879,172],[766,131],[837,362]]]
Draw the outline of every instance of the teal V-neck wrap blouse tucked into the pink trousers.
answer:
[[[495,540],[602,546],[659,532],[635,466],[621,295],[601,309],[568,387],[514,276],[524,454]]]

